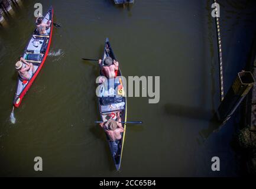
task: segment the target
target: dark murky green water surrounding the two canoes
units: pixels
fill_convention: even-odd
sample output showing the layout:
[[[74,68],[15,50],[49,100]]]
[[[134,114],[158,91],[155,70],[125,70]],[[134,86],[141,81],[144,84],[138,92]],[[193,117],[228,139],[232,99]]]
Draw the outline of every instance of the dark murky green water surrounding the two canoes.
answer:
[[[218,49],[212,1],[41,1],[53,5],[50,56],[9,122],[15,93],[14,63],[34,30],[34,4],[23,4],[0,29],[1,176],[236,176],[239,158],[230,142],[238,113],[204,142],[219,106]],[[255,33],[254,1],[222,1],[224,87],[228,90],[248,57]],[[128,98],[121,171],[116,172],[99,119],[95,63],[109,37],[124,76],[160,76],[160,102]],[[203,130],[205,131],[205,130]],[[34,171],[34,157],[43,171]],[[221,159],[221,171],[210,169]]]

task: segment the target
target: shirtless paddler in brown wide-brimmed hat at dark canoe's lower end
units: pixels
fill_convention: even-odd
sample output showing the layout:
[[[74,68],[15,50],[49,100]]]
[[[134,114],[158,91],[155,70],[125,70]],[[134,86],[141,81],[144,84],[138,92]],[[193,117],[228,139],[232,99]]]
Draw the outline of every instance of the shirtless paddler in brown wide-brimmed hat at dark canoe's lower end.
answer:
[[[117,113],[117,120],[109,119],[107,122],[100,123],[99,125],[104,129],[104,131],[108,134],[109,140],[112,143],[115,157],[118,153],[118,145],[120,143],[120,139],[122,139],[121,133],[124,132],[124,128],[122,127],[120,112]]]

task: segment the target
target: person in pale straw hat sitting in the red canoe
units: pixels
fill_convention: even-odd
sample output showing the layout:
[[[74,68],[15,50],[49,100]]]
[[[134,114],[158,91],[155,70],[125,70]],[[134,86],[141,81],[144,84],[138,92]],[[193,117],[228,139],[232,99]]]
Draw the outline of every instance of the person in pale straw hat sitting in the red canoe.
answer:
[[[23,67],[23,63],[26,65],[25,67]],[[17,61],[15,64],[15,69],[18,71],[18,74],[23,80],[30,80],[35,72],[33,64],[27,63],[27,61],[25,61],[25,59],[22,57],[20,61]]]

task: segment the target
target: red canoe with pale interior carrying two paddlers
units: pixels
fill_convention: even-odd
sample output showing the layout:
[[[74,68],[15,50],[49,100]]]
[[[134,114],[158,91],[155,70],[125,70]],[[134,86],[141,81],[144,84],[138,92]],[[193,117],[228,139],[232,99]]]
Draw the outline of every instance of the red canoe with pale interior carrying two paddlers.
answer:
[[[40,72],[40,70],[42,69],[46,61],[46,57],[50,50],[51,37],[53,35],[53,8],[52,7],[50,7],[50,9],[48,10],[45,18],[43,19],[43,22],[46,23],[48,21],[47,19],[51,20],[51,26],[47,30],[48,35],[47,36],[38,35],[37,29],[35,29],[23,53],[23,58],[28,63],[33,63],[35,72],[31,76],[30,80],[22,80],[21,77],[18,75],[17,88],[16,88],[14,102],[13,102],[15,107],[19,107],[21,105],[21,101],[23,97],[27,93],[28,89],[30,89],[31,85],[33,84],[35,78],[38,76],[38,73]],[[33,58],[31,57],[37,57],[39,59],[33,60]],[[28,60],[28,58],[30,58],[30,60]]]

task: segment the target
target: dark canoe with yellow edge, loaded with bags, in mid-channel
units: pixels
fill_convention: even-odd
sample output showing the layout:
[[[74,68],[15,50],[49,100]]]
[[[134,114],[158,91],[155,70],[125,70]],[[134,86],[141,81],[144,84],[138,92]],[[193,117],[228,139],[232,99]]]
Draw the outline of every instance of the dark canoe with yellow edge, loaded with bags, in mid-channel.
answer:
[[[105,57],[108,57],[108,56],[111,57],[113,60],[116,60],[114,52],[113,52],[113,50],[111,48],[111,44],[109,43],[108,38],[106,38],[104,54],[103,54],[102,60],[104,60]],[[101,72],[100,72],[100,75],[103,76],[103,74]],[[121,73],[120,67],[119,67],[119,70],[117,72],[117,76],[114,79],[115,80],[115,84],[116,83],[119,84],[119,79],[122,79],[122,73]],[[113,80],[113,79],[111,79],[111,80]],[[105,81],[105,82],[109,82],[109,80]],[[122,80],[122,82],[124,83],[123,80]],[[118,106],[118,108],[114,108],[114,107],[115,107],[115,105],[120,104],[120,103],[112,103],[111,106],[109,106],[109,105],[102,105],[101,101],[102,101],[102,97],[98,97],[98,104],[99,104],[99,112],[100,112],[100,115],[101,115],[101,121],[106,122],[108,120],[107,119],[108,116],[111,116],[111,113],[112,114],[113,113],[116,114],[117,112],[120,112],[120,117],[122,119],[122,122],[126,122],[127,121],[127,98],[126,97],[123,97],[123,100],[121,102],[122,106]],[[107,139],[108,144],[109,144],[109,149],[111,151],[111,156],[112,156],[112,158],[114,160],[114,164],[115,164],[116,170],[120,169],[121,159],[122,159],[122,152],[123,152],[123,149],[124,149],[123,147],[124,147],[126,125],[124,123],[122,123],[122,126],[124,128],[124,132],[121,134],[122,138],[118,141],[119,142],[118,151],[117,151],[117,154],[116,154],[115,157],[114,157],[114,146],[113,146],[112,142],[109,141],[109,137],[106,134],[106,139]]]

